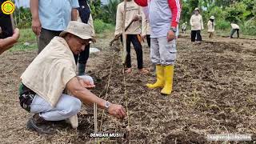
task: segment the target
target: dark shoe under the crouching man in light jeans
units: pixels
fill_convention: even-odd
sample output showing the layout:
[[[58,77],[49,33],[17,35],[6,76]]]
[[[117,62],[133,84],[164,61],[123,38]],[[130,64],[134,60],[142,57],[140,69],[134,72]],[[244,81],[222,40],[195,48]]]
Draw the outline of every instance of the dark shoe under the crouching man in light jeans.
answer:
[[[39,114],[34,114],[32,118],[26,123],[26,127],[29,130],[37,131],[38,134],[54,134],[56,130],[54,130],[50,126],[50,122],[44,120],[39,116]]]

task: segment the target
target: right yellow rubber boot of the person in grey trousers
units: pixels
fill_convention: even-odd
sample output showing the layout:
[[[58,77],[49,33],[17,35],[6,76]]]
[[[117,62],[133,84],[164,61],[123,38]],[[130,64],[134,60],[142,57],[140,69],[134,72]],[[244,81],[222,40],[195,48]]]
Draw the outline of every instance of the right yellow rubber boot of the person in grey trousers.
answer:
[[[165,66],[165,86],[161,90],[161,94],[170,95],[173,90],[174,66]]]

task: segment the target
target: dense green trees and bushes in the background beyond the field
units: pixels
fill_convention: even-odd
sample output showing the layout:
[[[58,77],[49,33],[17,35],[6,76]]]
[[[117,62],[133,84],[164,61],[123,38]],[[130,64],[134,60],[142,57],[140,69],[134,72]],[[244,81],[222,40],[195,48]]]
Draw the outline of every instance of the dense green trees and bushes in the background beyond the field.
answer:
[[[243,34],[256,35],[256,0],[181,0],[182,22],[190,21],[195,7],[199,7],[205,24],[211,15],[216,18],[216,30],[230,30],[230,22],[237,22]],[[115,24],[119,0],[109,0],[102,5],[100,0],[90,1],[90,8],[97,32]],[[15,22],[20,28],[31,26],[29,9],[19,8],[14,13]],[[110,24],[110,25],[109,25]]]

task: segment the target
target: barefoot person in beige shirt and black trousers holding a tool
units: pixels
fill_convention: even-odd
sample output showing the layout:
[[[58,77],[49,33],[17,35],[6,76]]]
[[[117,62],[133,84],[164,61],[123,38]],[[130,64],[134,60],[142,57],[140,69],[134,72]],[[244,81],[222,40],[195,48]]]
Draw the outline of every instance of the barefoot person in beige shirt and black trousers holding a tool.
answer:
[[[122,34],[122,19],[124,16],[124,2],[118,4],[116,26],[115,26],[115,37],[118,34]],[[138,70],[141,74],[149,73],[148,70],[143,68],[143,51],[141,44],[141,33],[142,33],[142,9],[138,6],[134,0],[127,0],[126,20],[125,26],[127,27],[130,22],[133,23],[126,30],[126,73],[131,73],[131,58],[130,58],[130,43],[133,43],[134,49],[137,55]],[[122,37],[121,37],[122,41]]]

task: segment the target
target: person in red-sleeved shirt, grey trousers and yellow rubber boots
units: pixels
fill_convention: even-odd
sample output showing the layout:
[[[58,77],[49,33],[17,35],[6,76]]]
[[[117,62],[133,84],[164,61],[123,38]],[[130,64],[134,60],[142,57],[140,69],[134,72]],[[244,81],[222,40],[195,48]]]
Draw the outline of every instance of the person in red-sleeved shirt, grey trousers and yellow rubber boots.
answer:
[[[151,26],[150,58],[156,65],[157,80],[146,84],[150,89],[162,88],[161,94],[173,90],[174,62],[176,59],[177,26],[181,14],[179,0],[134,0],[139,6],[149,7]]]

